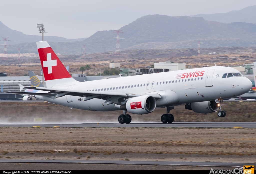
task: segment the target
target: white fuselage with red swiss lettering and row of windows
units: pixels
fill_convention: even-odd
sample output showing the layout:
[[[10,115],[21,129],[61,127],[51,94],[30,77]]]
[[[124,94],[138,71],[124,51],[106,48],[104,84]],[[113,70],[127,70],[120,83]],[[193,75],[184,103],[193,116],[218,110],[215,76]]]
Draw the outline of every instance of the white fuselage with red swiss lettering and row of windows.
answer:
[[[185,77],[184,73],[186,73]],[[211,101],[218,98],[231,98],[244,94],[251,89],[252,83],[248,78],[243,76],[222,78],[224,73],[239,73],[239,71],[230,67],[195,68],[77,82],[75,84],[55,86],[55,88],[81,91],[97,90],[97,92],[122,92],[127,94],[158,93],[162,98],[156,101],[156,107],[177,106],[186,103]],[[97,98],[83,101],[84,97],[70,95],[59,98],[37,95],[35,97],[51,103],[84,110],[119,110],[114,104],[106,105],[104,103],[105,100]]]

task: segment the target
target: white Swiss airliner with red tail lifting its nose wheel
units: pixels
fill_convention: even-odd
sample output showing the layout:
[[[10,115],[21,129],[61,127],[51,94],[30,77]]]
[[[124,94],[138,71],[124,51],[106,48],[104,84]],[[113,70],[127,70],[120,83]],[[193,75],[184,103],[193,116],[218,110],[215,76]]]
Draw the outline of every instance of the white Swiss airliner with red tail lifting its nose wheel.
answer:
[[[74,80],[46,41],[37,42],[39,57],[47,88],[26,87],[39,90],[36,98],[51,103],[84,110],[123,110],[119,123],[130,123],[132,114],[148,114],[155,108],[166,107],[161,116],[163,123],[171,123],[170,110],[185,105],[196,113],[212,113],[225,117],[221,110],[224,98],[248,92],[251,81],[236,69],[214,66],[178,71],[143,74],[87,82]],[[25,86],[21,86],[21,89]],[[25,92],[12,92],[22,93]]]

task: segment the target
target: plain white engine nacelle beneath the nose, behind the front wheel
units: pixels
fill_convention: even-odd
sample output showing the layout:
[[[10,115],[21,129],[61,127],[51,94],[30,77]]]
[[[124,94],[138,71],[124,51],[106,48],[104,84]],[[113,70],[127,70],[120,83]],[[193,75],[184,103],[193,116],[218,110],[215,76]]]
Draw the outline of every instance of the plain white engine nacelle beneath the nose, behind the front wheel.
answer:
[[[219,109],[218,104],[215,101],[189,103],[185,105],[185,109],[193,110],[196,113],[208,114],[216,112]]]

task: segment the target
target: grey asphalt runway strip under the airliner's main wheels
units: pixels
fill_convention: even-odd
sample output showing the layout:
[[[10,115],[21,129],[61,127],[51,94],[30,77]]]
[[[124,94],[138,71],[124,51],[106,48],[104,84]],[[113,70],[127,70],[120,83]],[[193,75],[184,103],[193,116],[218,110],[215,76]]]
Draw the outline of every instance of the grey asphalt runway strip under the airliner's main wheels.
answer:
[[[0,127],[113,127],[113,128],[122,128],[122,127],[142,127],[142,128],[233,128],[233,127],[242,127],[242,128],[256,128],[256,122],[173,122],[173,123],[130,123],[130,124],[119,124],[119,123],[8,123],[0,124]]]

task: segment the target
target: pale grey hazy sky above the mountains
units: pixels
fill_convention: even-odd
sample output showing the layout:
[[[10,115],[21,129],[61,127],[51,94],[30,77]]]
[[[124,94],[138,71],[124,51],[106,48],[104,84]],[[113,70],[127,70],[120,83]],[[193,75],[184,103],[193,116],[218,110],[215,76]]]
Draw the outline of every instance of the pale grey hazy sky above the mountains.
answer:
[[[24,34],[86,38],[117,30],[145,15],[190,16],[227,13],[256,5],[255,0],[0,0],[0,21]]]

